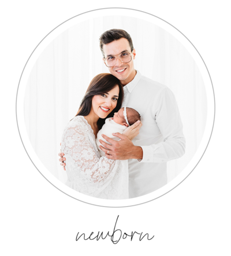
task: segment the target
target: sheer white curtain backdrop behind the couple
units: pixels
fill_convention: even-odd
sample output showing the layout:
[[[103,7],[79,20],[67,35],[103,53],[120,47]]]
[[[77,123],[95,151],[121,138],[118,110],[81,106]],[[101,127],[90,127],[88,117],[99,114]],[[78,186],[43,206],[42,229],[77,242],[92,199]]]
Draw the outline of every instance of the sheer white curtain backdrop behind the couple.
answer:
[[[136,49],[135,69],[168,86],[176,96],[186,152],[167,163],[170,181],[187,166],[202,140],[206,91],[200,71],[185,47],[147,21],[125,16],[100,17],[74,25],[57,36],[36,61],[28,80],[24,114],[29,139],[44,166],[65,182],[66,173],[58,161],[62,132],[76,115],[91,79],[109,72],[102,61],[99,36],[111,28],[122,28],[131,35]]]

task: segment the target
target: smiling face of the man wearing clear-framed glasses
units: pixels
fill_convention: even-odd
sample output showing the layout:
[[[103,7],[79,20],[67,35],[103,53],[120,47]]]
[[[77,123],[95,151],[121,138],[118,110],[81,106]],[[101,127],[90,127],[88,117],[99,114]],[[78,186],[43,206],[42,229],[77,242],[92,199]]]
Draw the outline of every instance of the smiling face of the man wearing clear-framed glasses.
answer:
[[[131,52],[131,47],[129,46],[129,42],[126,38],[120,38],[113,42],[107,43],[106,45],[103,45],[105,58],[109,57],[110,55],[119,56],[119,54],[124,51],[132,54],[132,60],[129,63],[122,63],[120,58],[117,58],[116,64],[109,68],[111,75],[114,75],[116,78],[120,79],[122,85],[126,85],[131,82],[136,75],[133,63],[133,60],[136,56],[135,49],[133,49],[133,52]]]

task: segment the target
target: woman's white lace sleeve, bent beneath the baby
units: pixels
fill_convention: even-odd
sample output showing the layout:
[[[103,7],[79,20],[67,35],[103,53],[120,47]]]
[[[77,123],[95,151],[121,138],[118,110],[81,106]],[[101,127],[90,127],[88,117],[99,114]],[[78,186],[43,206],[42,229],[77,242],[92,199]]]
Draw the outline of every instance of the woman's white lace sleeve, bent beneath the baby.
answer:
[[[75,183],[77,191],[96,196],[113,180],[120,161],[99,158],[90,138],[90,131],[81,121],[73,122],[64,130],[61,145],[69,181]]]

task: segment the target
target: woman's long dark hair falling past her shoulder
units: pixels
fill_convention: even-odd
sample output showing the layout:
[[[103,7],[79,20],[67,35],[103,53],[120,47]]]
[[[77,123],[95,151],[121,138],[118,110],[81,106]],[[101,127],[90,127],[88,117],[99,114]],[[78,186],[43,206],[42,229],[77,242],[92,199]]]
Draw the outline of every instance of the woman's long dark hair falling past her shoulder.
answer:
[[[76,116],[89,115],[91,111],[92,97],[95,95],[108,93],[117,85],[120,87],[120,93],[119,93],[119,98],[117,100],[117,105],[116,105],[116,108],[114,108],[113,111],[111,111],[106,118],[113,117],[114,113],[118,112],[119,109],[121,108],[122,100],[124,98],[124,90],[122,88],[120,80],[116,78],[116,76],[111,75],[109,73],[102,73],[102,74],[96,75],[92,79],[92,81],[90,82],[90,85],[87,88],[87,92],[85,93],[83,100],[80,103],[79,111],[77,112]],[[104,125],[106,118],[103,118],[103,119],[99,118],[97,122],[99,129],[101,129],[102,126]]]

